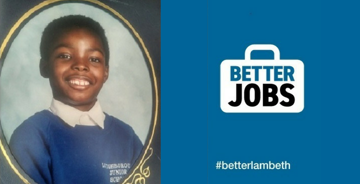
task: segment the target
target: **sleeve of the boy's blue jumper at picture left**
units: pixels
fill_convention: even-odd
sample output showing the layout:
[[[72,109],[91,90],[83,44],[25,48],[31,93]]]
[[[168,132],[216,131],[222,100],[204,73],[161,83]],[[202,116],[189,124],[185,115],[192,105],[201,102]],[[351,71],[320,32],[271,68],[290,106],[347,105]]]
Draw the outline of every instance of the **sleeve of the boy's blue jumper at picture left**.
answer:
[[[9,146],[21,168],[36,183],[52,183],[46,123],[25,120],[13,132]]]

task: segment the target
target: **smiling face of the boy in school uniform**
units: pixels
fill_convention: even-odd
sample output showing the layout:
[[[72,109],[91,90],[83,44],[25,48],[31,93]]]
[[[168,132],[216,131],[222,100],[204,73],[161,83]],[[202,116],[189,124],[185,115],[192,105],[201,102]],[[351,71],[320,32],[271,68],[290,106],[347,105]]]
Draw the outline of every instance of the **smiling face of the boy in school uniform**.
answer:
[[[50,47],[49,81],[53,97],[87,111],[108,76],[105,51],[98,35],[84,28],[63,32]]]

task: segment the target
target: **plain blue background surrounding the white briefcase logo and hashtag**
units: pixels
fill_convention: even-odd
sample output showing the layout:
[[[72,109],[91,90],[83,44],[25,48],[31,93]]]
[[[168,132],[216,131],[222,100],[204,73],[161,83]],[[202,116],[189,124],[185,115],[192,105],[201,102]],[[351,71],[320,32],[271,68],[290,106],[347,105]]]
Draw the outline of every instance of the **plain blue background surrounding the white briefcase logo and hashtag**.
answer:
[[[359,183],[358,7],[346,0],[163,0],[162,182]],[[303,61],[302,112],[221,111],[220,63],[243,59],[250,44],[274,44],[281,59]],[[291,169],[215,169],[222,160],[286,160]]]

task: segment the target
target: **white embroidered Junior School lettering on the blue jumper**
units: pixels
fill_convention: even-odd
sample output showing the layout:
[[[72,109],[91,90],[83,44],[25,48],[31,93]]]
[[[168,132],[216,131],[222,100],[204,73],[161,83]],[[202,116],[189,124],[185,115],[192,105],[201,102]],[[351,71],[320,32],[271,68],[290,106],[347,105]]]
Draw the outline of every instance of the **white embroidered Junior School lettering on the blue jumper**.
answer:
[[[102,168],[109,169],[110,182],[119,182],[130,169],[130,163],[102,163]]]

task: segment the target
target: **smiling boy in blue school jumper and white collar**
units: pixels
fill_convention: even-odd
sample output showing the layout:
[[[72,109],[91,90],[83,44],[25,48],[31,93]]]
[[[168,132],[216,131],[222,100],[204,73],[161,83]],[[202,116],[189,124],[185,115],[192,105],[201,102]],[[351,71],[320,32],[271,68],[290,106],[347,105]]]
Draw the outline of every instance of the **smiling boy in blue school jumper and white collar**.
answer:
[[[53,99],[49,110],[13,132],[9,145],[15,159],[37,183],[118,182],[142,143],[97,101],[108,77],[103,28],[82,15],[55,19],[42,33],[40,55],[40,74],[49,79]]]

